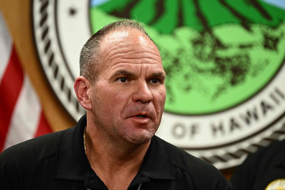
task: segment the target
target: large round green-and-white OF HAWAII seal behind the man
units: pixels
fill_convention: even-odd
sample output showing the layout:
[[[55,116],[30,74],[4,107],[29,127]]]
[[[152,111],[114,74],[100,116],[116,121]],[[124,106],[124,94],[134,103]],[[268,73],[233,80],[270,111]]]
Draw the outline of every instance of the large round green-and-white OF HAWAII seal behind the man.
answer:
[[[33,1],[34,39],[51,87],[78,120],[81,47],[108,23],[143,22],[167,74],[156,134],[224,169],[285,137],[285,10],[267,1]]]

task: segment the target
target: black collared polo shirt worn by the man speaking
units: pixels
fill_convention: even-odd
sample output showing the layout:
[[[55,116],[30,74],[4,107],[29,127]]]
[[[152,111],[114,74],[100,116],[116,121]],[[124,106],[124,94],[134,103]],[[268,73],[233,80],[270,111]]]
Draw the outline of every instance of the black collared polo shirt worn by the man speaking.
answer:
[[[3,151],[0,154],[1,189],[108,190],[85,155],[85,125],[86,115],[75,127]],[[232,186],[211,164],[154,136],[128,189],[220,190],[232,189]]]

